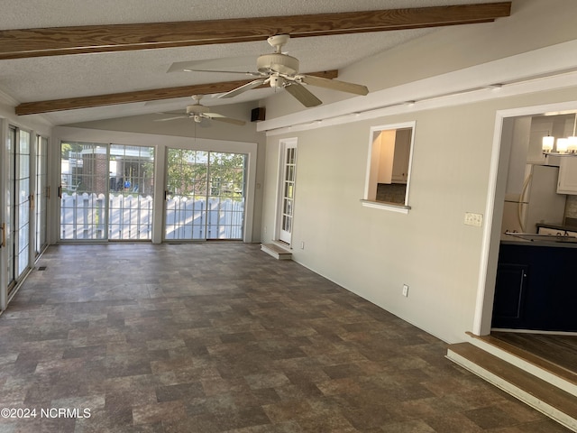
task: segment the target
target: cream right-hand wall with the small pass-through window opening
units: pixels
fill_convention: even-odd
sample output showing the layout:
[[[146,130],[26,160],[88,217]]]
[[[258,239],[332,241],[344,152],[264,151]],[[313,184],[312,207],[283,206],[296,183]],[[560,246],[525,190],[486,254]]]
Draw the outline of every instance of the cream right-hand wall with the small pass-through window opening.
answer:
[[[496,112],[557,100],[577,100],[577,87],[271,136],[263,237],[270,240],[274,227],[278,142],[296,136],[294,259],[445,341],[461,341],[473,327],[483,243],[483,228],[463,218],[484,214],[491,199]],[[362,207],[369,129],[411,120],[411,210]]]

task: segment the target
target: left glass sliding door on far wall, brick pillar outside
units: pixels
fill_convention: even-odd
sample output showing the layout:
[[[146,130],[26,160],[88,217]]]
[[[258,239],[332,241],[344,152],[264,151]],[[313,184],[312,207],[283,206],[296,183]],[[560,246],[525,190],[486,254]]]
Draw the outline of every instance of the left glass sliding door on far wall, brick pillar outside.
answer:
[[[151,240],[154,149],[60,144],[60,239]]]

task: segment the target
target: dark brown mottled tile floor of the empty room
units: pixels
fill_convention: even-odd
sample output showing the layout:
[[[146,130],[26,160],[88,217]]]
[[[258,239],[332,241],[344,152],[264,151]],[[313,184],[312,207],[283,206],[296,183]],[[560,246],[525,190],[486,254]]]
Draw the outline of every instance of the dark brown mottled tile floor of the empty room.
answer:
[[[258,244],[52,246],[0,338],[1,432],[568,431]]]

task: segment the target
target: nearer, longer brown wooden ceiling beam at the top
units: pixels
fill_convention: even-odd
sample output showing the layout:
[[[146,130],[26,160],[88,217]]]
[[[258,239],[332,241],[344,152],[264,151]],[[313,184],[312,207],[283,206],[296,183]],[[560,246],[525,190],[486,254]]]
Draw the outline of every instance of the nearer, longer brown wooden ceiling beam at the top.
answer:
[[[488,23],[510,14],[511,2],[215,21],[84,25],[0,31],[0,60],[215,43],[264,41],[353,32],[384,32]]]

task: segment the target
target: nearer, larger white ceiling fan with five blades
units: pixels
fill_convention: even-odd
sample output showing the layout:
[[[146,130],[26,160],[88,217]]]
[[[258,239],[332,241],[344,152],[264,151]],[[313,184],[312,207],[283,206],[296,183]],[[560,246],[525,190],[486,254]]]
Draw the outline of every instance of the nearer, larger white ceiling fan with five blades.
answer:
[[[224,93],[219,97],[235,97],[252,88],[268,84],[271,88],[284,88],[297,98],[303,106],[319,106],[323,102],[313,95],[305,85],[319,88],[330,88],[355,95],[367,95],[369,89],[360,84],[348,83],[337,79],[321,78],[298,73],[298,59],[282,52],[282,47],[290,39],[288,34],[270,36],[267,40],[275,49],[273,53],[263,54],[256,60],[257,72],[238,72],[225,70],[184,69],[189,72],[225,72],[259,77],[239,88]]]

